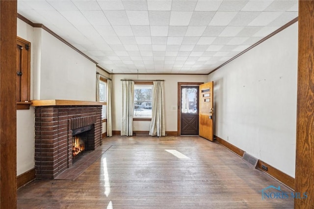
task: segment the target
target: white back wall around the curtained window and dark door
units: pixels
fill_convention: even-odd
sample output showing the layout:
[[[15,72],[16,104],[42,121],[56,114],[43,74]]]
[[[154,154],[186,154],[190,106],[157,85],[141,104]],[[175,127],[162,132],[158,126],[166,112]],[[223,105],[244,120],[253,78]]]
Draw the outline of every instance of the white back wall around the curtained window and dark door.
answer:
[[[137,79],[137,75],[113,75],[113,98],[112,104],[112,130],[120,131],[121,127],[121,104],[122,104],[122,82],[120,79]],[[177,131],[178,129],[178,82],[207,82],[205,75],[139,75],[138,79],[164,79],[165,90],[165,125],[166,131]],[[172,106],[176,107],[175,110]],[[149,131],[150,121],[133,121],[134,131]]]

